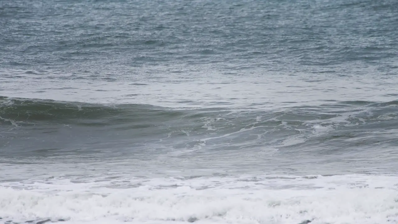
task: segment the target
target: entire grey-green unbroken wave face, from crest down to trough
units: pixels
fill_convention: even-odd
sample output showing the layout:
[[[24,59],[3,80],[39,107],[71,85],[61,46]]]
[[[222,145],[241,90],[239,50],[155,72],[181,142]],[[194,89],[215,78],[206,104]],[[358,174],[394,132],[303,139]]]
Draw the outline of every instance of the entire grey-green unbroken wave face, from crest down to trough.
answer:
[[[213,165],[232,159],[236,160],[233,166],[242,163],[244,169],[273,166],[274,171],[282,171],[284,162],[289,162],[296,166],[289,169],[300,170],[307,163],[338,163],[347,171],[366,164],[362,171],[371,172],[376,164],[377,169],[388,167],[396,158],[383,155],[398,145],[397,101],[330,102],[273,110],[7,97],[1,102],[2,157],[10,158],[164,156],[201,167],[208,165],[204,160],[211,155]],[[344,169],[333,172],[344,173]]]

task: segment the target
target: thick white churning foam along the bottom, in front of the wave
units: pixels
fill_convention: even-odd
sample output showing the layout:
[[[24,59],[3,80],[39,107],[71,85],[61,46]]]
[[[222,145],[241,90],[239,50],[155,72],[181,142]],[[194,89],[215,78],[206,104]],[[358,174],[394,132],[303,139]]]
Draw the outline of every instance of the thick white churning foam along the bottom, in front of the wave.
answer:
[[[396,177],[68,179],[2,183],[2,221],[398,223]],[[13,186],[13,187],[11,187]]]

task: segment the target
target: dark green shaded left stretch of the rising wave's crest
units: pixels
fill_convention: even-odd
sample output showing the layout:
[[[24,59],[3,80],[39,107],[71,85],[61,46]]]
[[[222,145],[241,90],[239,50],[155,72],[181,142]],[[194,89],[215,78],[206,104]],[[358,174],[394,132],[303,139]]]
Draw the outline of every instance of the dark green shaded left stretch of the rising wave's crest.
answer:
[[[113,123],[136,122],[154,117],[163,120],[175,118],[181,113],[144,104],[105,105],[0,96],[0,114],[3,119],[26,123],[84,124],[85,121],[92,120],[101,126],[109,125],[109,120]]]

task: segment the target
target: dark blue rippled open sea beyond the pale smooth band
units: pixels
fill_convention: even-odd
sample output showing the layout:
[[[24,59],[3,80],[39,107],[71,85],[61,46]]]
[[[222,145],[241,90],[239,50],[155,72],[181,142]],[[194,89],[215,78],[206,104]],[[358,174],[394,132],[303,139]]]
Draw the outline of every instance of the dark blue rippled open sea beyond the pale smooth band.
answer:
[[[222,73],[256,67],[263,73],[394,75],[396,4],[6,0],[1,66],[109,73],[115,79],[159,65],[206,65]]]

